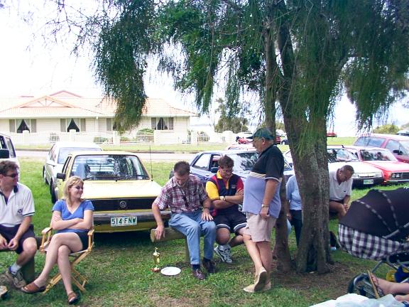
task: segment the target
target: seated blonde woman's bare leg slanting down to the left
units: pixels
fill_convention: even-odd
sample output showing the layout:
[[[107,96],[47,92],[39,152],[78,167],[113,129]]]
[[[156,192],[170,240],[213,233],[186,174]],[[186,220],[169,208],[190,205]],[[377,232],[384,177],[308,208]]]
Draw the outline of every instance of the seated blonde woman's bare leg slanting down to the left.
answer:
[[[50,271],[58,259],[58,249],[60,249],[62,245],[66,245],[72,252],[77,252],[82,248],[80,237],[73,232],[53,235],[47,255],[45,256],[44,269],[34,281],[37,286],[45,286],[47,283],[48,275],[50,275]]]

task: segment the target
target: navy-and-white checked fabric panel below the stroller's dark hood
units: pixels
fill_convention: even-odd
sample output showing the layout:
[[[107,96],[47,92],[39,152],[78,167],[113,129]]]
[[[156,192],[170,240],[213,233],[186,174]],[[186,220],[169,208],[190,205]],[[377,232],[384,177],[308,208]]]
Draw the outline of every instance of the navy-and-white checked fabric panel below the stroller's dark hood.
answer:
[[[400,243],[376,237],[341,224],[338,226],[338,238],[343,249],[362,259],[381,260],[391,254],[409,250],[409,242]]]

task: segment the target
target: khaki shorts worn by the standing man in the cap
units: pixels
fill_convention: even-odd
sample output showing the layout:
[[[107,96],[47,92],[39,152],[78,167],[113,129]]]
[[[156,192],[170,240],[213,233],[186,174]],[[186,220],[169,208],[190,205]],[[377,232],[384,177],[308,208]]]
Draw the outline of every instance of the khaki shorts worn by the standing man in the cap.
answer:
[[[244,235],[251,236],[253,242],[271,241],[271,232],[276,225],[276,218],[263,218],[261,215],[247,213],[247,225],[244,228]]]

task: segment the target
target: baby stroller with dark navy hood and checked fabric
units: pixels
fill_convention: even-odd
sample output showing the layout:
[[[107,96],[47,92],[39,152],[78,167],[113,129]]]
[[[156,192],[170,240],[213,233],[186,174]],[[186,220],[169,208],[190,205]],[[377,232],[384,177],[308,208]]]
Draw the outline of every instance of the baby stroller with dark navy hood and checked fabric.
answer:
[[[351,204],[339,220],[339,243],[349,254],[378,260],[372,273],[383,264],[395,270],[397,282],[407,282],[409,274],[409,188],[370,190]],[[375,298],[368,274],[349,282],[348,293]]]

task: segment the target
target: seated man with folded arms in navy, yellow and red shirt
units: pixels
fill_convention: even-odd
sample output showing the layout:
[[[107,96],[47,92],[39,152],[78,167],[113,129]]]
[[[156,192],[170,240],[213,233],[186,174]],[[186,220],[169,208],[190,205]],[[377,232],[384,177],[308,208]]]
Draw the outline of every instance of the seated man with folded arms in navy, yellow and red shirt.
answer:
[[[217,247],[214,252],[222,262],[231,263],[231,247],[243,244],[246,215],[240,212],[243,203],[243,181],[233,173],[234,161],[229,156],[219,158],[219,170],[206,183],[206,192],[212,200],[212,216],[216,223]],[[235,236],[230,239],[230,233]]]

